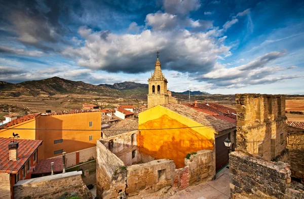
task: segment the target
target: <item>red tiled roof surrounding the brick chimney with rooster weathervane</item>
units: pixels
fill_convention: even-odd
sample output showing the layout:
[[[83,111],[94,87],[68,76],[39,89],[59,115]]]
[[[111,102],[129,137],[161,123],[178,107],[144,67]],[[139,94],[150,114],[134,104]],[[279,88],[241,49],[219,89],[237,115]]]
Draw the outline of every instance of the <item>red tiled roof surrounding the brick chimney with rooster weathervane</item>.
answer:
[[[42,140],[15,139],[19,143],[18,160],[9,160],[9,144],[13,138],[0,138],[0,172],[17,174],[28,158],[43,142]]]

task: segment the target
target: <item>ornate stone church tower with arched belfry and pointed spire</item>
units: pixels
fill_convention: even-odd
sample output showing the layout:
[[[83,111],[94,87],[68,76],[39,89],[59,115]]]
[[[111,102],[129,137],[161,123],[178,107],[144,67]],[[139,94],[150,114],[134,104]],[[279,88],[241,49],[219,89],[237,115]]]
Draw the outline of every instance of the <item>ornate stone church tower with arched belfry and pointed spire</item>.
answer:
[[[151,73],[151,77],[148,78],[149,94],[148,94],[148,108],[156,106],[158,104],[168,104],[167,94],[167,79],[165,78],[162,69],[161,62],[157,56],[155,62],[154,73]]]

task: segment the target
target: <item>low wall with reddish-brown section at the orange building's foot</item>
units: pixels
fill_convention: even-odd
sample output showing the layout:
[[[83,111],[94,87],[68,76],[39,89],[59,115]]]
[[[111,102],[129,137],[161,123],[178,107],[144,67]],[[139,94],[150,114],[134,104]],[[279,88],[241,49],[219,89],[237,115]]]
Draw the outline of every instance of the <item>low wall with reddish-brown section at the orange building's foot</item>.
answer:
[[[65,157],[67,158],[66,168],[73,167],[75,165],[85,163],[89,160],[96,159],[96,146],[91,148],[86,148],[80,151],[75,151],[72,153],[66,153]],[[51,157],[49,159],[62,158],[62,155]]]

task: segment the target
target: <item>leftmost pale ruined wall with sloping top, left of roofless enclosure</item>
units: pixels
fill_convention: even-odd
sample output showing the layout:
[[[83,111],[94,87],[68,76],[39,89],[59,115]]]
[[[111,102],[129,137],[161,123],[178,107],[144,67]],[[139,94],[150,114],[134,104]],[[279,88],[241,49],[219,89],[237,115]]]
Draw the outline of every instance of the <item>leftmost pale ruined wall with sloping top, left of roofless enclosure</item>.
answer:
[[[96,194],[102,198],[103,192],[110,189],[112,175],[124,163],[99,140],[96,141],[96,150]]]

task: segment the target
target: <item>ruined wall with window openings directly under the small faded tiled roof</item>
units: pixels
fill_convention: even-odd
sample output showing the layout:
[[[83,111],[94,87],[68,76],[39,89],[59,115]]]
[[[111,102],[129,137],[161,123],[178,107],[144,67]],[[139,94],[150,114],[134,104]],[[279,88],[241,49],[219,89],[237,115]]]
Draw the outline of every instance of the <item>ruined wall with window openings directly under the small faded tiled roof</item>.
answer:
[[[119,134],[103,138],[100,142],[108,149],[109,141],[113,140],[113,148],[109,149],[112,153],[120,158],[126,166],[137,164],[140,162],[141,157],[137,147],[137,134],[139,131],[132,131],[128,133]],[[132,142],[132,134],[134,139]],[[135,157],[132,157],[132,151],[135,152]]]

